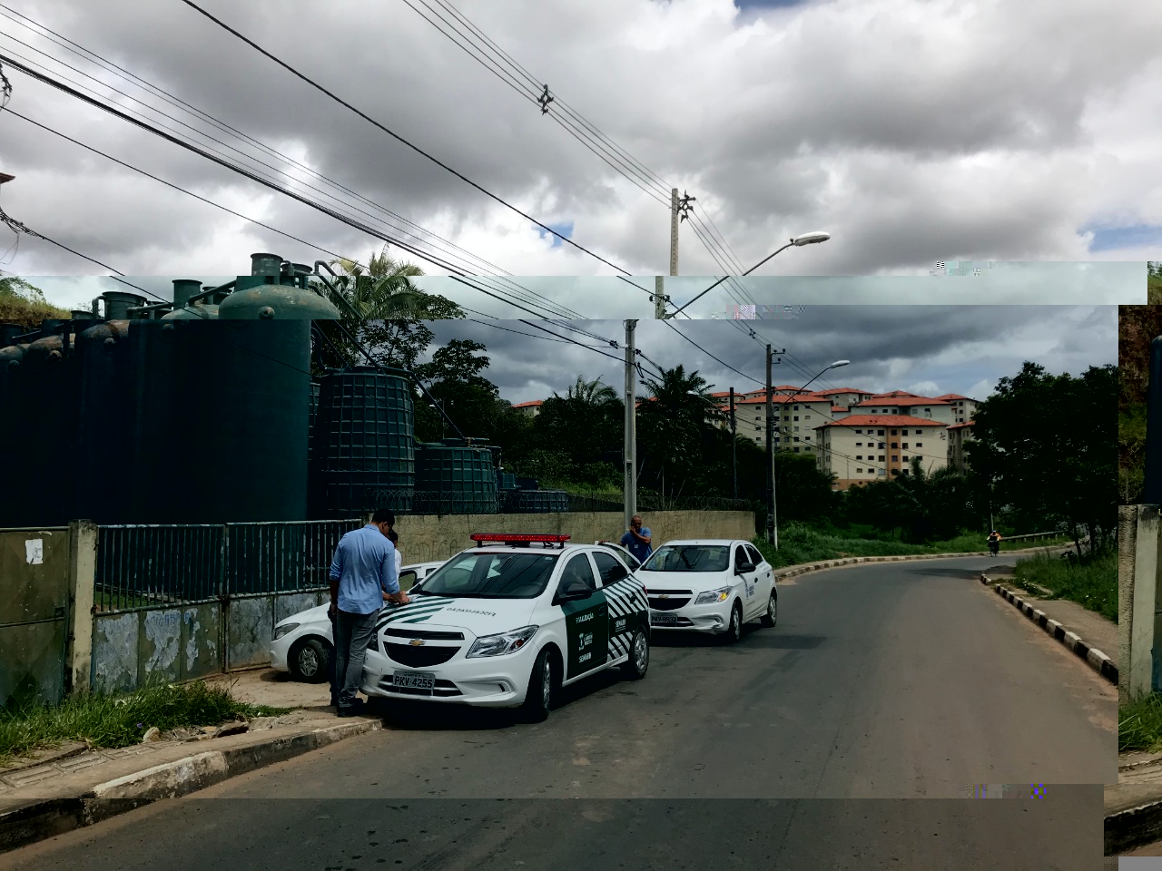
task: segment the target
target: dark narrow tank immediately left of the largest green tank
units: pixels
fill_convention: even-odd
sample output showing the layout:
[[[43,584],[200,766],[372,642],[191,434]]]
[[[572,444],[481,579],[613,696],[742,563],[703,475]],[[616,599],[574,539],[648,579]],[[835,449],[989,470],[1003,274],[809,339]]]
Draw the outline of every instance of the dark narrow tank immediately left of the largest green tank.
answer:
[[[129,321],[108,321],[77,337],[80,393],[77,405],[77,518],[124,524],[132,459],[132,369]]]

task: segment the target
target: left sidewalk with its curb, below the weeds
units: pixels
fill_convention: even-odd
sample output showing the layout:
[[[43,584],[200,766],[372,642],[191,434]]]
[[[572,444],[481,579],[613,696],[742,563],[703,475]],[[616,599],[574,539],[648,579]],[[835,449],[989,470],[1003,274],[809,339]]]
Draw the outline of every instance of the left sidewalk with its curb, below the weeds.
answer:
[[[249,724],[191,729],[119,749],[70,742],[0,768],[0,852],[293,758],[380,728],[370,717],[338,719],[327,684],[270,669],[217,675],[241,701],[297,708]]]

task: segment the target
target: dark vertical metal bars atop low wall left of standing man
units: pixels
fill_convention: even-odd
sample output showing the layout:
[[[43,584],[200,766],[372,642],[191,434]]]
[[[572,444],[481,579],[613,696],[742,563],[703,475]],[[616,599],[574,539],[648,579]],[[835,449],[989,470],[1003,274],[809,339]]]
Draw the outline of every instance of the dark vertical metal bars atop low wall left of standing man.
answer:
[[[339,539],[363,523],[100,526],[94,604],[125,611],[320,589]]]

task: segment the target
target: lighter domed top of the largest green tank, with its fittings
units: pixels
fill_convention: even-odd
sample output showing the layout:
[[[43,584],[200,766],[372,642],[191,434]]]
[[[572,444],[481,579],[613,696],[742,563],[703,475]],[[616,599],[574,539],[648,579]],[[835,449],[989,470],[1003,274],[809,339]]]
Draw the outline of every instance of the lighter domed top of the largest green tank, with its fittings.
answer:
[[[218,307],[230,321],[336,321],[339,310],[310,289],[310,267],[278,254],[251,254],[251,274],[239,275]]]

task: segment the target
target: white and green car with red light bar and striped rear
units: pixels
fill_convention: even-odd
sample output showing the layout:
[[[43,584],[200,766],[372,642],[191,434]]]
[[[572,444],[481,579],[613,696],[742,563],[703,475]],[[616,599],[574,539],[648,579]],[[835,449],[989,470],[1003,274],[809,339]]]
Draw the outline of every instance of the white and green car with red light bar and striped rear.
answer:
[[[645,677],[646,591],[616,552],[568,535],[471,538],[409,604],[380,614],[368,698],[521,707],[540,721],[560,686],[614,667]]]

